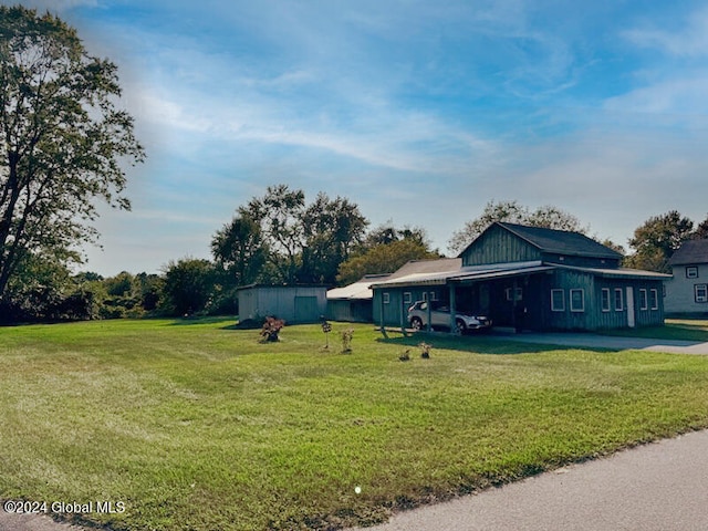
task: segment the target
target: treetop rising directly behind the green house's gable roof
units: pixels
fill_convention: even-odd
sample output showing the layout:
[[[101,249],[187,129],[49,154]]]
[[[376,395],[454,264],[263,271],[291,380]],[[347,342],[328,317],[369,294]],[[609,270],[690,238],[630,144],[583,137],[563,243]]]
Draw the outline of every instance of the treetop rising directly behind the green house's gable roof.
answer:
[[[544,206],[530,210],[517,200],[497,202],[491,200],[487,202],[479,217],[467,221],[461,230],[452,233],[452,238],[448,241],[448,249],[455,253],[461,252],[494,221],[587,232],[587,228],[583,227],[575,216],[556,207]]]

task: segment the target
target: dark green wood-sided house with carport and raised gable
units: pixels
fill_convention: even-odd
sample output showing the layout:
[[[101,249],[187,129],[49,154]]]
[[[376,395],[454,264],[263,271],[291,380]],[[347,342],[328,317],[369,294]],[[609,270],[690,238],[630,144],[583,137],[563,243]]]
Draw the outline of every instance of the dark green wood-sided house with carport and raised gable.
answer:
[[[669,275],[621,268],[622,256],[579,232],[492,223],[457,269],[392,275],[374,283],[374,321],[407,326],[417,300],[483,314],[516,330],[600,330],[664,322]],[[454,330],[454,322],[450,329]]]

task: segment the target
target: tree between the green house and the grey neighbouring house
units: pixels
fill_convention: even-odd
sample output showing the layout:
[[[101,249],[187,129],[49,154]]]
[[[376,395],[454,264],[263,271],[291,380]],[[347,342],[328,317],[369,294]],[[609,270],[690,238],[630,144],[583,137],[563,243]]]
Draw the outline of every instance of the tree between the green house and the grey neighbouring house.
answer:
[[[625,258],[627,267],[662,273],[670,272],[668,259],[693,236],[694,222],[671,210],[647,219],[634,231],[629,247],[634,253]]]

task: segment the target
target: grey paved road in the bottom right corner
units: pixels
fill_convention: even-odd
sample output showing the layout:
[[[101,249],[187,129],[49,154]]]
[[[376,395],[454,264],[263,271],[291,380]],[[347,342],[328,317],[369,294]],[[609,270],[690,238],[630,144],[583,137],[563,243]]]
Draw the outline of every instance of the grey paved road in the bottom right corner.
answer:
[[[367,531],[705,531],[708,431],[395,516]]]

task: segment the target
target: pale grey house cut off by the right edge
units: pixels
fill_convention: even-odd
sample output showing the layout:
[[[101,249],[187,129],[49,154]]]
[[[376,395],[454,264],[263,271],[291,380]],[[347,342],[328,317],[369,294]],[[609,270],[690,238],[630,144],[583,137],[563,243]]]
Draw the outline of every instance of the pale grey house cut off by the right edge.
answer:
[[[708,313],[708,240],[689,240],[668,264],[674,277],[666,281],[667,313]]]

